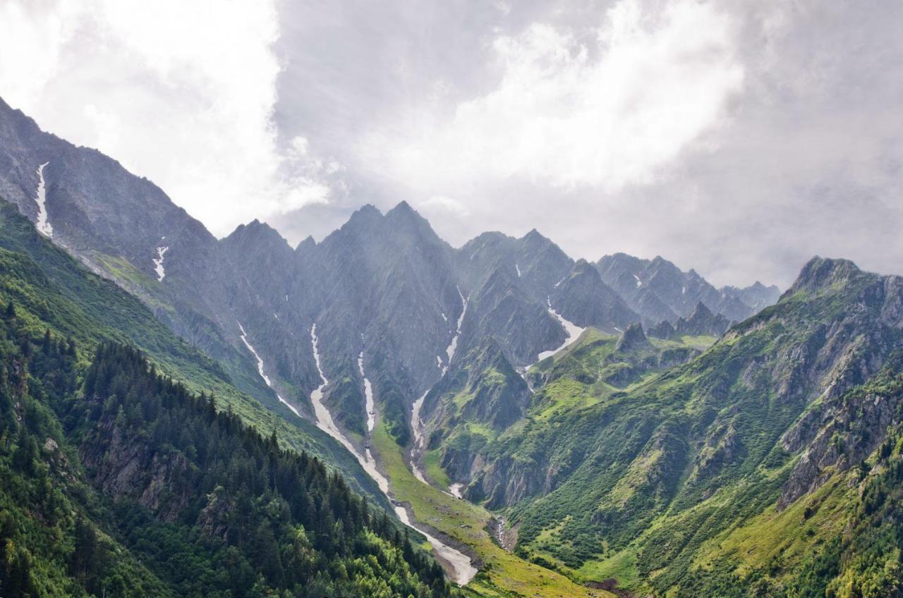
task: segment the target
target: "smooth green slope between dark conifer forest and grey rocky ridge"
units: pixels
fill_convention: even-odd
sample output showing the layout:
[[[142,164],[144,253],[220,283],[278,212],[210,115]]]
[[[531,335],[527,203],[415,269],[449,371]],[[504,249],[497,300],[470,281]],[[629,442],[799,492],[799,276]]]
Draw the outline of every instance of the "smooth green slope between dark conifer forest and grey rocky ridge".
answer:
[[[23,325],[34,333],[49,328],[84,347],[102,341],[132,343],[167,376],[195,392],[212,394],[220,408],[230,406],[257,429],[275,429],[287,446],[335,464],[358,491],[387,506],[375,482],[338,443],[275,397],[263,405],[239,391],[217,362],[177,338],[135,297],[54,247],[6,203],[0,203],[0,264],[0,302],[14,301]],[[261,395],[272,393],[267,389]]]

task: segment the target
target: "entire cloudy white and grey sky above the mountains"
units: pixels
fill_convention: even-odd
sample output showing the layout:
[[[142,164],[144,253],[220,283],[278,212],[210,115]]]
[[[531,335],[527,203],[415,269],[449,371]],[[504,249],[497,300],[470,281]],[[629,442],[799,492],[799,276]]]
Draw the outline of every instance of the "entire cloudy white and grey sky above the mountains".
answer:
[[[897,0],[0,0],[0,96],[223,236],[409,201],[787,285],[903,274]]]

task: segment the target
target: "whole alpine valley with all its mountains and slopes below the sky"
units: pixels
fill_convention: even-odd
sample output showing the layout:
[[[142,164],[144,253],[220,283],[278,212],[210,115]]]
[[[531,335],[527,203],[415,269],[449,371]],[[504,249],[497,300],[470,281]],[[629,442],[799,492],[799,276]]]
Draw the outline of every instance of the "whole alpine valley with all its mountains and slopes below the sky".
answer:
[[[0,595],[903,587],[903,278],[215,238],[0,100]]]

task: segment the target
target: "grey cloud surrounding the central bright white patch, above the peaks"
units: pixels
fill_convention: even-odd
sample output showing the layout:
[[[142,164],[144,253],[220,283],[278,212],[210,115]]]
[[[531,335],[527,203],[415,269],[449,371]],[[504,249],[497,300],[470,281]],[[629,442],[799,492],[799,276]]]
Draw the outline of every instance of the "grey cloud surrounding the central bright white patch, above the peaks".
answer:
[[[363,160],[373,153],[360,151],[361,140],[375,130],[387,140],[378,151],[398,151],[393,135],[412,130],[423,135],[423,151],[433,151],[431,137],[447,134],[456,109],[503,84],[492,45],[500,37],[541,23],[572,36],[589,61],[604,60],[606,48],[592,35],[616,4],[286,5],[284,26],[295,34],[280,41],[288,57],[280,130],[310,135],[312,146],[348,165],[349,192],[333,198],[332,210],[405,199],[453,244],[484,229],[537,227],[575,257],[661,254],[719,283],[787,285],[816,253],[903,270],[898,3],[708,5],[729,20],[723,52],[742,68],[741,88],[724,100],[717,122],[654,164],[649,180],[607,189],[499,174],[431,190],[422,172],[374,172]],[[642,25],[655,31],[667,5],[643,7]],[[646,81],[653,90],[657,83]],[[424,110],[434,118],[411,122]],[[449,209],[450,201],[461,209]],[[310,211],[275,225],[323,234],[331,224]]]

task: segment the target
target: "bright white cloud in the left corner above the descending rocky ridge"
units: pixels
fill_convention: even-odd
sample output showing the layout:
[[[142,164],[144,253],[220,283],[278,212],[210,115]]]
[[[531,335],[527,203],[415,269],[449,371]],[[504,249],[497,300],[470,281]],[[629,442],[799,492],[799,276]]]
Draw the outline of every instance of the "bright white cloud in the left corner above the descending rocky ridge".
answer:
[[[147,176],[217,234],[330,194],[280,148],[275,1],[0,6],[0,94],[45,130]]]

